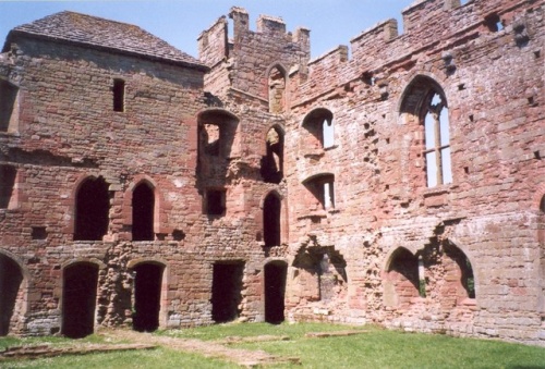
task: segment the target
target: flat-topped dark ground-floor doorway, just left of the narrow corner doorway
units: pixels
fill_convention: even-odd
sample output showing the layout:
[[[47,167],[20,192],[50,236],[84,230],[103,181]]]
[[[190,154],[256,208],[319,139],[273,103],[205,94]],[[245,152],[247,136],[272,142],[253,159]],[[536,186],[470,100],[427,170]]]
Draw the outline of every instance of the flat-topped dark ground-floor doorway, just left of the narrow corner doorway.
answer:
[[[217,323],[233,321],[241,313],[243,262],[217,262],[213,269],[211,319]]]

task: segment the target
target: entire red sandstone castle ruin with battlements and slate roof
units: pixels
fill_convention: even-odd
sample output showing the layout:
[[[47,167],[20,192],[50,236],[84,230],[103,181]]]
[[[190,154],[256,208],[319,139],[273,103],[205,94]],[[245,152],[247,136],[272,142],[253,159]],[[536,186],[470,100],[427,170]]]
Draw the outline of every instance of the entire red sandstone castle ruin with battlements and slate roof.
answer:
[[[310,60],[62,12],[0,54],[0,334],[232,320],[545,346],[545,4],[420,0]]]

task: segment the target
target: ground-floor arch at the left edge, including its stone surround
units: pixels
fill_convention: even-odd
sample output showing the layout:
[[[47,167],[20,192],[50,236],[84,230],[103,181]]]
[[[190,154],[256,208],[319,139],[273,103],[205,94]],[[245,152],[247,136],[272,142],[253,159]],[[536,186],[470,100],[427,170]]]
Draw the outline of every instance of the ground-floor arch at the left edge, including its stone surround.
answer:
[[[13,254],[0,249],[0,336],[23,330],[29,273]]]

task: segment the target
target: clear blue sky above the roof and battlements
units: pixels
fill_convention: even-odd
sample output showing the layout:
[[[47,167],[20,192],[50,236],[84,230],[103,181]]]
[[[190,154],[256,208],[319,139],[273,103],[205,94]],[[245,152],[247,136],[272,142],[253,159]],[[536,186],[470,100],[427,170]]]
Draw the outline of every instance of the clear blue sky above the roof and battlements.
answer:
[[[231,7],[250,13],[255,30],[259,14],[280,16],[289,32],[311,29],[311,52],[316,58],[338,45],[349,45],[362,30],[397,19],[415,0],[155,0],[155,1],[5,1],[0,0],[0,39],[13,27],[63,10],[137,25],[178,49],[197,57],[196,38]]]

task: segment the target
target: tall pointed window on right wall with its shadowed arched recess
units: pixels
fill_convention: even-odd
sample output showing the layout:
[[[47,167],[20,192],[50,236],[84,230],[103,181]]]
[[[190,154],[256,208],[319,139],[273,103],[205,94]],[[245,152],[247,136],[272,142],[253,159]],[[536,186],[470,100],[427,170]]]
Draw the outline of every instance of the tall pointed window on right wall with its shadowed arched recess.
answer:
[[[414,156],[425,159],[427,186],[452,183],[448,104],[440,86],[429,77],[416,77],[404,93],[401,114],[423,131]]]

